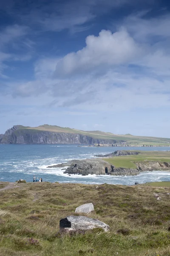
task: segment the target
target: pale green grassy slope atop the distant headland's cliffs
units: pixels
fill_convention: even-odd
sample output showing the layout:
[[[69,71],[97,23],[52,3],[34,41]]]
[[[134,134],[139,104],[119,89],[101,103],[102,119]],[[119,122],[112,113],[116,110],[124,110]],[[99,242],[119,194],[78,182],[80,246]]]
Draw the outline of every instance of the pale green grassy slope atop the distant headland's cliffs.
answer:
[[[51,131],[51,132],[64,132],[64,133],[74,133],[74,134],[82,134],[86,136],[93,137],[94,139],[102,139],[102,140],[124,140],[127,144],[132,145],[170,145],[170,139],[167,138],[157,138],[157,137],[141,137],[141,136],[133,136],[130,134],[119,135],[112,134],[102,131],[81,131],[72,128],[63,128],[56,125],[40,125],[38,127],[24,127],[21,126],[21,129],[28,129],[29,132],[36,131]],[[17,133],[15,131],[14,133]]]

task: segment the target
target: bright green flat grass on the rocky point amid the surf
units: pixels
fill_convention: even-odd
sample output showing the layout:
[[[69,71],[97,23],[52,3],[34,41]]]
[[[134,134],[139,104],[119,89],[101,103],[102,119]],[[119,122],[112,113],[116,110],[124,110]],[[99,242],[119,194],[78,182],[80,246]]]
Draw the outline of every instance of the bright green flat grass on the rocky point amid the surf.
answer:
[[[115,167],[136,168],[135,162],[159,161],[170,163],[169,151],[139,151],[139,155],[103,158]]]

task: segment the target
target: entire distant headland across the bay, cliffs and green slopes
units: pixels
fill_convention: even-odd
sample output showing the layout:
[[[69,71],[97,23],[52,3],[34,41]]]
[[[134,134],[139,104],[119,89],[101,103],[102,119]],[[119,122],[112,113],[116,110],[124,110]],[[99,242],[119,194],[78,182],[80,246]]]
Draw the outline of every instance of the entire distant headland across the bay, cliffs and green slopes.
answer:
[[[109,144],[109,145],[170,145],[170,139],[158,137],[119,135],[103,131],[82,131],[57,125],[29,127],[14,125],[0,134],[3,144]]]

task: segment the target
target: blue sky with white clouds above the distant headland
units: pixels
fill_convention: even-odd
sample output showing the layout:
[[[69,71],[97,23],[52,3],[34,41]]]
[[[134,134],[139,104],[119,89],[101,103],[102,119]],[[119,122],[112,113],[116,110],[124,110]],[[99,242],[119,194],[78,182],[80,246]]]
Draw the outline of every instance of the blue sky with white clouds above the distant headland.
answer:
[[[170,138],[168,0],[0,1],[0,133]]]

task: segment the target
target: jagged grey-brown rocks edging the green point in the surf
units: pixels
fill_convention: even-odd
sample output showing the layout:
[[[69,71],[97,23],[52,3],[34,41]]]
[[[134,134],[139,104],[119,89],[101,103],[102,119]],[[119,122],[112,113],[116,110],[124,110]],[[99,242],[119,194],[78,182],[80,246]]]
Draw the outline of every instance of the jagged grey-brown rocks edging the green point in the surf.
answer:
[[[119,157],[121,155],[139,154],[137,151],[115,151],[107,155],[98,155],[102,157],[112,156]],[[57,164],[54,166],[48,166],[47,168],[64,168],[65,174],[78,174],[78,175],[138,175],[140,172],[145,171],[158,171],[158,170],[170,170],[170,163],[159,163],[159,161],[145,161],[136,162],[136,169],[115,167],[108,163],[106,160],[100,158],[84,159],[84,160],[71,160],[67,163]]]

